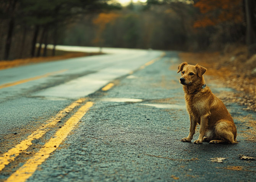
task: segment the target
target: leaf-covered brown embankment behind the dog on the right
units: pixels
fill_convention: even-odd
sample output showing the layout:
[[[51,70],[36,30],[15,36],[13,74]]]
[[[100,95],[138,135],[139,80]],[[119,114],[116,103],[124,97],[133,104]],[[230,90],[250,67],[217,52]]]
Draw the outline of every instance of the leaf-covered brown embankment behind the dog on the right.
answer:
[[[227,95],[227,99],[256,112],[256,55],[248,58],[245,46],[228,46],[223,53],[184,52],[179,56],[183,62],[206,67],[207,75],[238,91],[234,95]]]

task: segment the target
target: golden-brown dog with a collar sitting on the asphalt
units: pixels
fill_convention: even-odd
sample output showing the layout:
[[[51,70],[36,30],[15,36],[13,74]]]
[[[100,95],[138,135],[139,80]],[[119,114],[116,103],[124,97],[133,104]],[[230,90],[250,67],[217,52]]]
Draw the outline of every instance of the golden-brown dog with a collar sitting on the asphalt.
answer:
[[[203,74],[206,68],[198,64],[181,63],[180,84],[183,85],[188,114],[190,115],[190,133],[182,142],[191,142],[197,123],[200,125],[199,137],[195,144],[237,143],[237,129],[224,103],[206,86]],[[177,73],[178,73],[177,72]]]

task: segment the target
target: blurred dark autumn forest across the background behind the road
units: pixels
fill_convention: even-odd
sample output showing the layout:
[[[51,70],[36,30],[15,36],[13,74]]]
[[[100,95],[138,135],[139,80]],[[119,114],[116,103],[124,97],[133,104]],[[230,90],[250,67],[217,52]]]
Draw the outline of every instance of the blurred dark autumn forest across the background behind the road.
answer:
[[[246,45],[253,55],[256,2],[147,0],[122,6],[115,0],[1,0],[0,60],[46,56],[42,44],[190,52],[234,44]]]

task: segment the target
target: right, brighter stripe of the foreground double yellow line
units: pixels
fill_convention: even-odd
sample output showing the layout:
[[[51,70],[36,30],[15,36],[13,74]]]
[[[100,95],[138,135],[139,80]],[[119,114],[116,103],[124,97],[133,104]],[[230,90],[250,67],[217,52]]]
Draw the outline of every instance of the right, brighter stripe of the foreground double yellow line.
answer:
[[[21,166],[16,172],[14,172],[6,182],[24,182],[26,179],[32,176],[32,174],[36,171],[37,166],[41,165],[45,159],[50,156],[54,150],[58,148],[60,143],[68,136],[70,131],[76,126],[78,121],[86,114],[86,112],[91,108],[93,102],[87,102],[85,105],[81,106],[79,110],[71,116],[68,121],[64,124],[62,128],[60,128],[47,143],[45,143],[44,147],[42,147],[32,158],[28,159],[28,161]]]

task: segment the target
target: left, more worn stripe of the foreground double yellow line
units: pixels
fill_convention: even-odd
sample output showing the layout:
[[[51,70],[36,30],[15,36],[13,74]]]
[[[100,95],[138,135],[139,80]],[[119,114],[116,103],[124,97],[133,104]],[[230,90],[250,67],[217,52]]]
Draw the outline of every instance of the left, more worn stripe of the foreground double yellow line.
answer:
[[[56,125],[58,121],[60,121],[67,115],[67,113],[72,111],[76,106],[80,105],[85,100],[86,98],[80,98],[79,100],[71,103],[71,105],[67,106],[64,110],[58,112],[58,114],[54,118],[49,119],[47,121],[47,124],[34,131],[31,135],[29,135],[27,139],[21,141],[21,143],[19,143],[18,145],[4,153],[2,156],[0,156],[0,171],[2,171],[2,169],[5,168],[5,166],[8,165],[11,161],[14,161],[14,159],[21,152],[23,152],[29,146],[31,146],[33,140],[41,138],[49,130],[49,127],[53,127],[54,125]]]

